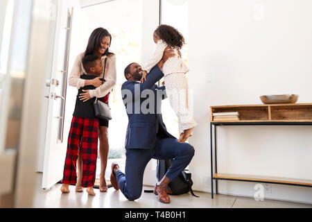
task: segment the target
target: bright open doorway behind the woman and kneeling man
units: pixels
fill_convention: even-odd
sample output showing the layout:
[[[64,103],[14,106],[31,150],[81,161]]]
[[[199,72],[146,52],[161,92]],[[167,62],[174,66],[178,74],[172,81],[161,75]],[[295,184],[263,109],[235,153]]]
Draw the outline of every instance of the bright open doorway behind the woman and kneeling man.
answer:
[[[123,105],[121,85],[125,82],[123,70],[126,65],[130,62],[141,63],[142,4],[143,0],[118,0],[82,8],[87,19],[85,38],[87,39],[95,28],[106,28],[112,35],[110,51],[116,55],[116,86],[110,94],[112,120],[108,128],[110,151],[105,172],[106,180],[110,180],[112,162],[118,162],[121,171],[125,168],[124,144],[128,116]],[[100,166],[101,160],[98,155],[96,179],[101,173]]]

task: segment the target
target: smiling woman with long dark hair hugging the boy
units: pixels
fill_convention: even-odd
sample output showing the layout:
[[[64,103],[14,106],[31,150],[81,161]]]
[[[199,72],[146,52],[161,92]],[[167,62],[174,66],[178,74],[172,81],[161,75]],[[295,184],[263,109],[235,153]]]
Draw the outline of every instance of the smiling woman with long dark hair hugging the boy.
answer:
[[[69,75],[68,83],[72,87],[80,89],[85,85],[94,85],[96,89],[86,90],[84,93],[80,94],[80,99],[83,101],[88,101],[93,97],[98,97],[103,103],[108,103],[109,94],[112,91],[114,85],[116,85],[116,56],[114,53],[110,52],[110,43],[112,42],[112,35],[105,28],[96,28],[89,37],[87,44],[87,49],[78,54],[75,62],[73,63],[73,68],[71,69],[71,74]],[[82,60],[85,55],[94,53],[94,55],[101,58],[106,62],[105,70],[105,83],[103,83],[100,78],[94,78],[93,80],[85,80],[80,78],[83,74],[86,74],[85,69],[83,68]],[[101,76],[102,77],[102,76]],[[104,96],[104,97],[103,97]],[[99,152],[100,163],[101,163],[101,173],[100,173],[100,186],[99,189],[101,192],[107,191],[107,183],[105,180],[105,171],[107,166],[107,157],[110,149],[110,144],[108,142],[108,126],[109,121],[106,119],[100,119],[100,133],[99,137]],[[81,157],[78,155],[78,181],[76,184],[76,191],[83,191],[81,187]],[[98,166],[99,167],[99,166]]]

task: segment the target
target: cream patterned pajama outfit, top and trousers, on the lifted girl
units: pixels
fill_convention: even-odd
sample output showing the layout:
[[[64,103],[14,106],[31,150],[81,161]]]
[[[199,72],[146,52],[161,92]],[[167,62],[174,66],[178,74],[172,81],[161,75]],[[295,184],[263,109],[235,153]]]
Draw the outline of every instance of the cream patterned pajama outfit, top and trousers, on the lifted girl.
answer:
[[[153,56],[148,60],[148,63],[142,68],[147,72],[150,71],[157,63],[162,60],[164,50],[168,44],[159,40]],[[179,133],[183,133],[184,130],[193,128],[198,123],[193,119],[193,110],[189,108],[189,83],[187,76],[185,75],[189,68],[178,56],[177,49],[173,49],[175,56],[168,58],[164,62],[162,72],[164,74],[164,81],[166,85],[166,94],[169,102],[179,122]]]

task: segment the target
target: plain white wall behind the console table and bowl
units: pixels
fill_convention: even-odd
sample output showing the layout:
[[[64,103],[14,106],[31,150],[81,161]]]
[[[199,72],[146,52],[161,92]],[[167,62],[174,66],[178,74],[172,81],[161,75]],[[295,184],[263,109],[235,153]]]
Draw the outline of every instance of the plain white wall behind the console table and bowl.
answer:
[[[190,139],[194,189],[211,191],[209,106],[259,104],[263,94],[288,93],[311,103],[311,40],[309,0],[189,1],[189,86],[200,123]],[[311,135],[312,126],[218,127],[218,172],[312,180]],[[223,180],[219,192],[254,196],[254,185]],[[272,185],[265,198],[312,203],[312,189]]]

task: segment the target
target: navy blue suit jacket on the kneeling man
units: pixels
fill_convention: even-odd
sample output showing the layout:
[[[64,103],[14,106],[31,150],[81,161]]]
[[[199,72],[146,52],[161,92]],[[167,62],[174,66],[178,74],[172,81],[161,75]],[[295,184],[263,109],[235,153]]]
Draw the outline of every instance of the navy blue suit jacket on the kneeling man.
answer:
[[[125,148],[154,148],[157,119],[162,134],[165,137],[175,138],[167,132],[162,119],[162,99],[166,98],[165,87],[155,85],[163,76],[164,74],[156,65],[150,70],[144,83],[131,80],[123,83],[121,94],[129,119]],[[148,101],[153,101],[153,104]],[[141,107],[148,108],[149,112]]]

